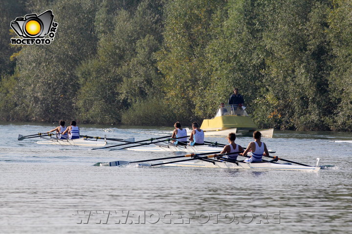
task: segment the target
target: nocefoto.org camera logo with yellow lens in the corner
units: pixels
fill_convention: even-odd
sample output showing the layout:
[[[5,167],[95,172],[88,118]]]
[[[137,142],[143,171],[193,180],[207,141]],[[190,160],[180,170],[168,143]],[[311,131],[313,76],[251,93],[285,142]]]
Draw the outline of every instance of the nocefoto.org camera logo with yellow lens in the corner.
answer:
[[[37,16],[37,14],[28,14],[24,18],[18,17],[11,21],[11,28],[20,38],[11,38],[13,45],[48,45],[55,38],[58,23],[54,22],[54,15],[51,10],[47,10]],[[45,38],[45,36],[48,37]]]

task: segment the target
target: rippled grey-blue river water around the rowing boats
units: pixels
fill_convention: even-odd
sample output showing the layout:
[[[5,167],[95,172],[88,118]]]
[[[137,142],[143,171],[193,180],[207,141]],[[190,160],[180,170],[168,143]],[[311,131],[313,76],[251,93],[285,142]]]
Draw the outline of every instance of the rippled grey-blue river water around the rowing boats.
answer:
[[[53,124],[0,123],[0,233],[352,233],[349,133],[281,132],[264,138],[317,173],[176,167],[96,167],[175,153],[90,150],[18,141]],[[172,128],[81,125],[81,134],[135,140]],[[227,143],[222,137],[206,140]],[[247,146],[251,138],[238,137]],[[110,143],[110,145],[116,142]]]

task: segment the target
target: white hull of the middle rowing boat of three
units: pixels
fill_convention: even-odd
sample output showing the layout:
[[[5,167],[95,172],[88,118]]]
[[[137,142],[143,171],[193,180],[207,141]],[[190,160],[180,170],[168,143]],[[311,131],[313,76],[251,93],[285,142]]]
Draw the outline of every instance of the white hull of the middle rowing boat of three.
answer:
[[[186,152],[186,153],[210,153],[221,151],[223,146],[209,146],[209,145],[156,145],[156,146],[146,146],[146,147],[133,147],[127,150],[132,151],[144,151],[144,152]]]

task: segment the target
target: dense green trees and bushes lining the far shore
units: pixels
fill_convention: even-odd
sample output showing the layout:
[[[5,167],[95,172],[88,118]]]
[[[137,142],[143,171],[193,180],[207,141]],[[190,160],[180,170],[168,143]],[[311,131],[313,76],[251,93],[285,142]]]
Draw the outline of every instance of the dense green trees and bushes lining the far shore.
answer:
[[[49,45],[10,22],[51,9]],[[260,128],[352,131],[352,0],[4,0],[0,121],[172,126],[234,87]]]

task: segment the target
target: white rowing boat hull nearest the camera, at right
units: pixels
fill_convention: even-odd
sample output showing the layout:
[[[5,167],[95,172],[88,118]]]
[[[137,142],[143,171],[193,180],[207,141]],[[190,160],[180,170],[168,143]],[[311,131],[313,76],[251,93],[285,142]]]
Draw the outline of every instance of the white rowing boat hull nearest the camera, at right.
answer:
[[[233,169],[255,169],[255,170],[288,170],[288,171],[305,171],[317,172],[320,167],[307,167],[293,164],[281,164],[271,162],[245,163],[245,162],[207,162],[203,160],[193,160],[185,162],[168,163],[165,166],[173,167],[201,167],[201,168],[233,168]]]

